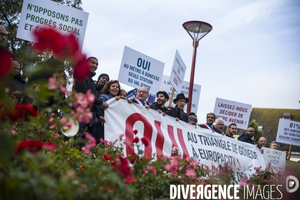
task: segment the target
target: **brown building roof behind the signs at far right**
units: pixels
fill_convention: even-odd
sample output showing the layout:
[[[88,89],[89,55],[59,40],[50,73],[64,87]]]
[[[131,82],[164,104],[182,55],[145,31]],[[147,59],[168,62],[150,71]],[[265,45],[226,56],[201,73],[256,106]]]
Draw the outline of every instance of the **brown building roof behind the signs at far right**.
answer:
[[[282,117],[300,122],[300,109],[252,108],[249,121],[255,119],[258,126],[262,126],[263,136],[270,143],[276,140],[279,119]],[[288,150],[289,144],[279,143],[278,150],[283,149]],[[291,151],[300,152],[300,146],[293,145]]]

